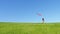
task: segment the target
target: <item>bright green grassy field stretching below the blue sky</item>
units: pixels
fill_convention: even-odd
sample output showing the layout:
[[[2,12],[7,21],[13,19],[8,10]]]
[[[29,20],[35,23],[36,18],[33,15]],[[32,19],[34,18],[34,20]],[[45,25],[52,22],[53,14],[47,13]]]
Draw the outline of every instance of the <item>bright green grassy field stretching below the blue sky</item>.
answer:
[[[60,34],[60,23],[4,23],[0,34]]]

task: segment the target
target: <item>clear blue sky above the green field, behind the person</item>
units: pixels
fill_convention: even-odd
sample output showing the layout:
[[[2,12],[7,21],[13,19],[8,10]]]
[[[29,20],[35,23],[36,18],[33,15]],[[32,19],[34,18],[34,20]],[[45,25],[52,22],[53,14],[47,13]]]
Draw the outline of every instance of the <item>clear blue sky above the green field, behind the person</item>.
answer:
[[[60,21],[60,0],[0,0],[0,22]]]

